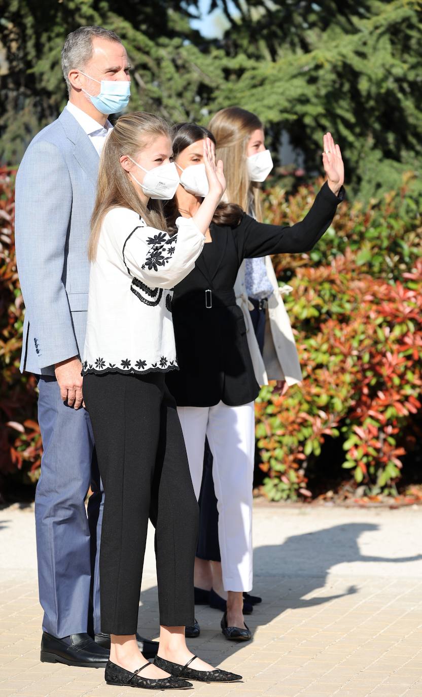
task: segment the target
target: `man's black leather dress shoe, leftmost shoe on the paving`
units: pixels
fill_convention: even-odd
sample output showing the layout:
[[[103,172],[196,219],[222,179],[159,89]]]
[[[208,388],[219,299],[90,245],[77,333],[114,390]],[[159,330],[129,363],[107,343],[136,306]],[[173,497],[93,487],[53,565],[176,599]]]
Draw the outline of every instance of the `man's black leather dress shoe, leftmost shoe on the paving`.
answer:
[[[70,634],[67,641],[42,632],[41,663],[64,663],[80,668],[105,668],[109,651],[95,643],[89,634]]]

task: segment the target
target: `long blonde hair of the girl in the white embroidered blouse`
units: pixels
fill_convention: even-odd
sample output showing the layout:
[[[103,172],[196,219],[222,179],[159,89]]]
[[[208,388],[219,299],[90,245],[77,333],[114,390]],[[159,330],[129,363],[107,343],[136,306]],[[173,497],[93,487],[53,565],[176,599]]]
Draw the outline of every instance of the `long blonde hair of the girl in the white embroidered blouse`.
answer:
[[[133,112],[120,116],[114,129],[107,137],[100,157],[97,197],[91,217],[91,236],[88,242],[88,259],[94,261],[104,215],[111,208],[121,206],[139,213],[147,225],[166,230],[166,218],[161,201],[150,199],[148,207],[143,204],[130,175],[120,164],[120,155],[135,159],[139,152],[159,135],[171,138],[171,127],[164,118]]]

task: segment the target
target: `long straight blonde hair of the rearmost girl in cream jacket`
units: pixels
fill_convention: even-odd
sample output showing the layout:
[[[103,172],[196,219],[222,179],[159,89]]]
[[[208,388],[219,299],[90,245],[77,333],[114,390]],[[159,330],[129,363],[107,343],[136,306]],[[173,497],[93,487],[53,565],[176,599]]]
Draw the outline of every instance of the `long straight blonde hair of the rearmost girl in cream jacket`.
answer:
[[[253,208],[256,219],[261,221],[260,187],[249,177],[247,144],[253,131],[263,128],[262,122],[246,109],[226,107],[212,117],[208,128],[217,141],[216,159],[223,160],[228,202],[247,213]]]

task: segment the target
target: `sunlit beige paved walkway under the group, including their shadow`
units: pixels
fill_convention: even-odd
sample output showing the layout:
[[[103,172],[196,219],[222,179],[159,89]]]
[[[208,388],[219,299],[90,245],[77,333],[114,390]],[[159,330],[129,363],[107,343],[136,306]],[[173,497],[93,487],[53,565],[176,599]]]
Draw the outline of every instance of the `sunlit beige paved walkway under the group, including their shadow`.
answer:
[[[192,650],[242,673],[242,684],[196,683],[187,697],[422,697],[422,509],[255,510],[253,641],[235,645],[220,613],[198,607]],[[157,634],[152,535],[139,629]],[[134,697],[102,671],[40,664],[31,509],[0,510],[0,697]]]

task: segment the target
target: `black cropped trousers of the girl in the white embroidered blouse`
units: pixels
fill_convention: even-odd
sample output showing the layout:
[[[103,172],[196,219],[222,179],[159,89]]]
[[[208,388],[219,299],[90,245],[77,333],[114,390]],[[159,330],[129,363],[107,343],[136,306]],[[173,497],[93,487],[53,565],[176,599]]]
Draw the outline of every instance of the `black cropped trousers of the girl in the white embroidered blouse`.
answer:
[[[194,622],[198,505],[175,402],[164,375],[84,377],[104,484],[101,630],[134,634],[148,516],[155,526],[159,622]]]

